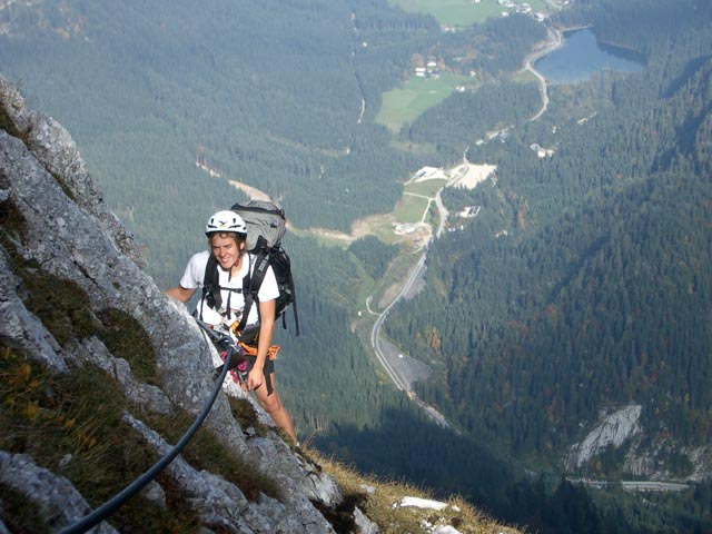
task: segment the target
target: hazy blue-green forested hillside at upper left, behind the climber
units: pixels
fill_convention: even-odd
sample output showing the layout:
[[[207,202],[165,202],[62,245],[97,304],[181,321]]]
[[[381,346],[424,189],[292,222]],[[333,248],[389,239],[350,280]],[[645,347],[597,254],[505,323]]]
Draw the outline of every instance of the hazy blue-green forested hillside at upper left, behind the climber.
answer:
[[[240,198],[227,180],[348,230],[419,165],[372,119],[439,29],[385,2],[14,2],[0,23],[4,75],[71,129],[166,283],[216,199]]]

